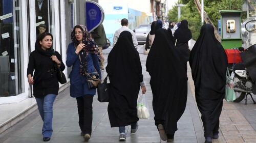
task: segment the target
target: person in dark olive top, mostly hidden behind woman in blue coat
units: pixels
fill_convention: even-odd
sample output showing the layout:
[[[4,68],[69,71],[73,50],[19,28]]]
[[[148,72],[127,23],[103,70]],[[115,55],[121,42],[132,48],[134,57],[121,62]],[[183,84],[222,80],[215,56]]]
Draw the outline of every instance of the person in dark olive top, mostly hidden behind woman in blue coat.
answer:
[[[106,34],[104,30],[103,24],[99,24],[97,28],[93,32],[91,32],[93,41],[98,45],[99,51],[100,51],[100,70],[104,70],[104,56],[102,55],[102,46],[106,45]]]

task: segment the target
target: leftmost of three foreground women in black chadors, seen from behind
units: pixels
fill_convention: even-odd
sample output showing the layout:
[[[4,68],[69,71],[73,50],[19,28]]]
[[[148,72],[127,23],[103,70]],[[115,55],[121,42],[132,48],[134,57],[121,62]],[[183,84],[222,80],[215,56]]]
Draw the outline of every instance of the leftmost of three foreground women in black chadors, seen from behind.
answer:
[[[121,32],[108,56],[106,73],[110,79],[108,113],[111,127],[119,127],[119,140],[126,139],[125,126],[131,125],[135,134],[139,125],[137,99],[140,91],[146,92],[140,56],[135,49],[132,34]]]

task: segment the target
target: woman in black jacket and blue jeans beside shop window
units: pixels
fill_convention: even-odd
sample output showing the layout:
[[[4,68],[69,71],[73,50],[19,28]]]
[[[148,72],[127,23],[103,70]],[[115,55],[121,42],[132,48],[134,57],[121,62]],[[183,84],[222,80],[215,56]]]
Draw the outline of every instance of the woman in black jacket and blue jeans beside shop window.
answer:
[[[33,94],[44,122],[42,126],[44,141],[49,141],[52,136],[53,102],[59,91],[55,64],[61,71],[65,69],[61,55],[52,49],[52,40],[52,34],[47,32],[40,34],[35,42],[35,50],[29,55],[27,69],[28,82],[33,84]]]

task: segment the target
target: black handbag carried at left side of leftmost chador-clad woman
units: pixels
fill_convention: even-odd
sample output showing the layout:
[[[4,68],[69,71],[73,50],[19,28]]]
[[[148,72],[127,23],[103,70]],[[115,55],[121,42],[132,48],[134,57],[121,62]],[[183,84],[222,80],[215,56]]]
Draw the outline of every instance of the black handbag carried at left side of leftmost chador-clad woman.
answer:
[[[106,83],[106,80],[108,80],[108,75],[106,75],[103,83],[98,84],[97,93],[99,102],[109,102],[110,83]]]

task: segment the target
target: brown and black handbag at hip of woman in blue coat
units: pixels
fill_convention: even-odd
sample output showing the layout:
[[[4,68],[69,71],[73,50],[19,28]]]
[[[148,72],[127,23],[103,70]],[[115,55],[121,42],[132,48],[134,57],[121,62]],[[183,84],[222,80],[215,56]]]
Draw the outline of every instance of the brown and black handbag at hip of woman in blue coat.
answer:
[[[99,73],[98,72],[86,73],[86,77],[87,77],[89,90],[96,89],[99,83]]]

